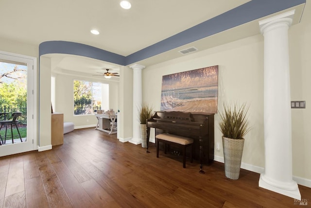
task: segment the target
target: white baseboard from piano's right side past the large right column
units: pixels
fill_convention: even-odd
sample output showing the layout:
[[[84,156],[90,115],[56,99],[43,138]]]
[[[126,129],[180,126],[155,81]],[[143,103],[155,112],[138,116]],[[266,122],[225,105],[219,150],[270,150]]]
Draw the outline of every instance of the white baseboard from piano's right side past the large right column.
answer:
[[[224,157],[221,156],[214,156],[214,160],[217,162],[222,162],[224,163]],[[251,164],[247,164],[247,163],[241,163],[241,168],[247,171],[252,171],[255,173],[264,173],[264,168],[259,167],[259,166],[255,166],[255,165],[251,165]],[[307,178],[302,178],[302,177],[298,177],[298,176],[294,176],[293,175],[293,180],[297,182],[297,184],[302,185],[302,186],[306,186],[311,188],[311,180],[307,179]]]

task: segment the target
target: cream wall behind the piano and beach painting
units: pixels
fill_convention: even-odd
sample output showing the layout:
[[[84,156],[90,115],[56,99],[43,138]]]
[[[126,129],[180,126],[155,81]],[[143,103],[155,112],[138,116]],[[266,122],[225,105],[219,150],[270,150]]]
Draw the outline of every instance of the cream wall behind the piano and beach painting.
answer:
[[[218,65],[218,109],[222,109],[223,102],[247,102],[250,105],[252,131],[245,137],[242,161],[263,167],[262,41],[263,37],[257,35],[147,67],[143,69],[143,100],[159,110],[163,75]],[[216,115],[215,144],[222,144],[218,120]],[[222,145],[220,151],[215,150],[215,156],[223,157]]]

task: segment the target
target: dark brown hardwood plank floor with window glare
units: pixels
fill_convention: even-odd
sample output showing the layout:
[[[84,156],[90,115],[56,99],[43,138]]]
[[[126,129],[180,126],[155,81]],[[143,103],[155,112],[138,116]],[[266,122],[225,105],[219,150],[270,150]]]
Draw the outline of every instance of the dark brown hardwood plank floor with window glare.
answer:
[[[0,208],[287,208],[294,199],[258,187],[259,174],[242,170],[225,177],[224,164],[198,161],[141,145],[121,143],[93,128],[64,135],[64,144],[44,152],[0,157]],[[311,204],[311,188],[299,186]],[[304,207],[308,207],[304,206]]]

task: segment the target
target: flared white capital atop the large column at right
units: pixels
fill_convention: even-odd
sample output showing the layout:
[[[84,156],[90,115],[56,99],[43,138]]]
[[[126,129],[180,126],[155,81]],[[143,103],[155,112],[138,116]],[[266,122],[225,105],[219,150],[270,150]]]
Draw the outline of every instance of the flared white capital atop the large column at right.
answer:
[[[264,34],[265,32],[282,27],[287,26],[290,27],[292,25],[293,19],[294,19],[295,10],[285,12],[280,15],[276,15],[274,17],[269,17],[267,19],[263,19],[259,21],[259,28],[261,34]]]

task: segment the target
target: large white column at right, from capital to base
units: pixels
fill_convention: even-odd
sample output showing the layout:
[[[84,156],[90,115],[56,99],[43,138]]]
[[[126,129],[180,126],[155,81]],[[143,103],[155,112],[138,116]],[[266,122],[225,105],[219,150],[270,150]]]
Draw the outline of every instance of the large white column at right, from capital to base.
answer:
[[[264,36],[265,171],[259,187],[301,199],[292,170],[292,119],[288,29],[294,10],[259,21]]]

